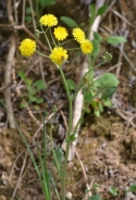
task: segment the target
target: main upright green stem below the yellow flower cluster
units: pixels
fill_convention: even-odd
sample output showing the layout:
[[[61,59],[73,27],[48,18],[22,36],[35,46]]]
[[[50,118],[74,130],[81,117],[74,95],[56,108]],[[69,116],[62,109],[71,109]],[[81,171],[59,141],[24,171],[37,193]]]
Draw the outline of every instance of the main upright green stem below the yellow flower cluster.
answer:
[[[60,73],[61,73],[61,77],[66,90],[66,95],[69,98],[69,129],[67,129],[67,138],[71,136],[71,132],[72,132],[72,97],[70,95],[70,90],[65,80],[65,76],[63,74],[62,67],[58,66]],[[62,186],[62,200],[65,200],[65,179],[66,179],[66,165],[67,165],[67,158],[69,158],[69,151],[70,151],[70,147],[71,147],[71,142],[67,141],[66,142],[66,150],[65,150],[65,158],[64,158],[64,165],[63,165],[63,170],[62,170],[62,182],[61,182],[61,186]]]

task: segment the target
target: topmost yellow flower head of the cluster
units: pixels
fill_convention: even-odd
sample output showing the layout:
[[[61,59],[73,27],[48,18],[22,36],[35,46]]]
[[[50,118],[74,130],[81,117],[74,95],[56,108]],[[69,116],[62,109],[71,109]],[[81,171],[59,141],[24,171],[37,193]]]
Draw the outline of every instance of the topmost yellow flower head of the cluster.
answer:
[[[53,14],[46,14],[40,17],[39,23],[44,26],[52,27],[58,24],[58,18]]]

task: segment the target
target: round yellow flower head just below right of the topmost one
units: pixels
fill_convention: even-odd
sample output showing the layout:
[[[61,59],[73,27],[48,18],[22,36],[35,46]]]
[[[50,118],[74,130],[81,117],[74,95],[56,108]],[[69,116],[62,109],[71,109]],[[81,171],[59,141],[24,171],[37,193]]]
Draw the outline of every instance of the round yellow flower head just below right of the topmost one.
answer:
[[[65,39],[65,38],[67,37],[67,35],[69,35],[66,28],[61,27],[61,26],[54,28],[53,34],[54,34],[54,37],[55,37],[58,40],[63,40],[63,39]]]

